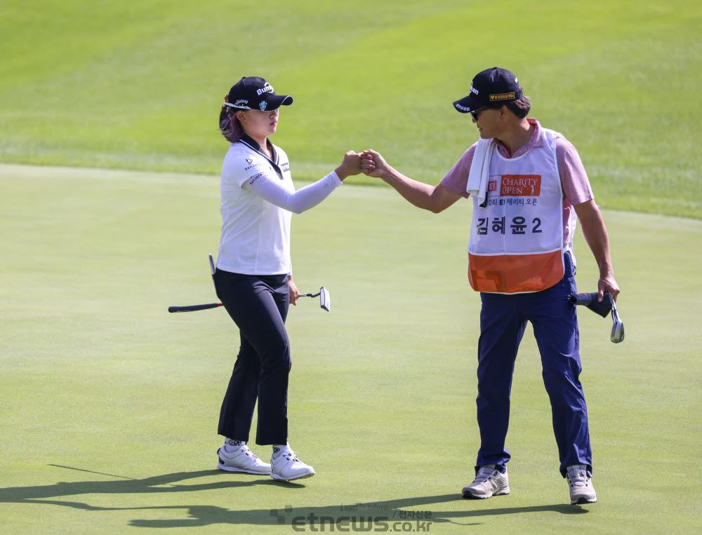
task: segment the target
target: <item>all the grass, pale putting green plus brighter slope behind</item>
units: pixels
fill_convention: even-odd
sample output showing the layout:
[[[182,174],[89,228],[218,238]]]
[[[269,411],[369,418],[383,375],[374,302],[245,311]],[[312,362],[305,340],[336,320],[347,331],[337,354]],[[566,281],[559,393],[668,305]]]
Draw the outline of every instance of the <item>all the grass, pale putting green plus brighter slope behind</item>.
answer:
[[[430,511],[433,533],[701,531],[702,6],[253,10],[0,4],[0,531],[291,532],[293,517],[406,510]],[[366,185],[293,218],[298,287],[325,285],[333,302],[288,321],[291,444],[317,475],[213,470],[238,333],[222,310],[166,308],[214,299],[223,95],[251,74],[294,95],[274,142],[296,180],[373,147],[435,184],[477,138],[451,101],[493,65],[578,147],[611,236],[626,339],[580,318],[600,502],[566,505],[531,332],[512,391],[512,494],[461,499],[479,445],[470,203],[435,216]],[[579,231],[576,252],[579,288],[595,290]]]

